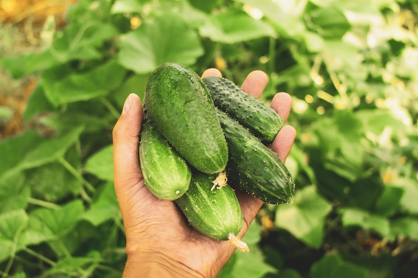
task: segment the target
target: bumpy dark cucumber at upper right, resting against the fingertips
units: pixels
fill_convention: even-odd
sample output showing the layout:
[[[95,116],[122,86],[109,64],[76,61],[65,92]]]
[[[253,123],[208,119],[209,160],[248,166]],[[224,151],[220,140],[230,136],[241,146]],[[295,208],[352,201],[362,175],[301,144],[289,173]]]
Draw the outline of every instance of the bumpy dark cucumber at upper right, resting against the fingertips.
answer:
[[[237,85],[219,76],[203,78],[217,108],[228,113],[263,143],[273,142],[284,126],[280,115]]]

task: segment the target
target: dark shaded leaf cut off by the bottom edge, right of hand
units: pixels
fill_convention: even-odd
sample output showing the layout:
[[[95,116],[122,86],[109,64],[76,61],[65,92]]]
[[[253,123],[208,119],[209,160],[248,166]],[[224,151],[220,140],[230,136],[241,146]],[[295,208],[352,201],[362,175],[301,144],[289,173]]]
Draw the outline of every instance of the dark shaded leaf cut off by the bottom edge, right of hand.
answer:
[[[339,254],[324,256],[323,259],[314,263],[311,267],[309,278],[366,278],[366,268],[343,261]]]

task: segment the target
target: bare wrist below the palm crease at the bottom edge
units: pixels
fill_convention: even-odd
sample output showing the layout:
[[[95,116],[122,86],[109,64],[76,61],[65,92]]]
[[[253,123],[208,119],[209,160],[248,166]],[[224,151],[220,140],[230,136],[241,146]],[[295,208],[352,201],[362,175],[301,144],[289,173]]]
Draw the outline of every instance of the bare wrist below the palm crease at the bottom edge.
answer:
[[[123,278],[130,277],[203,277],[183,263],[159,253],[128,254]]]

